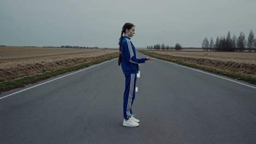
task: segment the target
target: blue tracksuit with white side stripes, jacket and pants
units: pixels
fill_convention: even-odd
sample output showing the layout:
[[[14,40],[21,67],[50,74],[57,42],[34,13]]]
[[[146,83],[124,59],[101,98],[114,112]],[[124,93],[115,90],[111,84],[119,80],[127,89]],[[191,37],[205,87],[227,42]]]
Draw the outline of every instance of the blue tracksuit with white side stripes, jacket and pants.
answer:
[[[121,67],[125,75],[125,92],[124,92],[124,118],[129,119],[132,116],[132,103],[135,99],[135,87],[138,64],[145,63],[147,58],[138,59],[136,56],[135,46],[132,44],[130,37],[124,36],[121,45]]]

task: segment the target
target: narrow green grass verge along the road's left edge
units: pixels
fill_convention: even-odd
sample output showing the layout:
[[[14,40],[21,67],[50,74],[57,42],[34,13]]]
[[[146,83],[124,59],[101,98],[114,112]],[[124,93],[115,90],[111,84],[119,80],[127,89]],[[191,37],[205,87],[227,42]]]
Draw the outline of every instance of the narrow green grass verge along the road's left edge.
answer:
[[[99,60],[94,61],[94,62],[79,64],[79,65],[76,65],[76,66],[73,66],[73,67],[63,68],[63,69],[59,69],[59,70],[55,70],[55,71],[50,71],[49,73],[45,73],[45,74],[27,76],[27,77],[24,77],[24,78],[18,79],[18,80],[0,82],[0,93],[9,91],[9,90],[14,89],[14,88],[23,87],[27,84],[36,83],[36,82],[41,81],[41,80],[49,79],[50,77],[57,76],[57,75],[60,75],[60,74],[64,74],[64,73],[67,73],[67,72],[70,72],[70,71],[86,68],[86,67],[89,67],[90,65],[102,63],[104,61],[109,61],[110,59],[114,59],[114,58],[117,58],[117,57],[118,56],[110,56],[110,57],[107,57],[107,58],[99,59]]]

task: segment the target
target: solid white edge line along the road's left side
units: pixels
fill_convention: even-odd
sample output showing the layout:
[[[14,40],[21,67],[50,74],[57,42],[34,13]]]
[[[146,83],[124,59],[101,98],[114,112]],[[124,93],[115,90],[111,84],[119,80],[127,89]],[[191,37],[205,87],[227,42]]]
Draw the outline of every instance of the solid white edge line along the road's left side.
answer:
[[[114,59],[117,59],[117,58],[114,58]],[[113,61],[114,59],[112,59],[112,60],[110,60],[110,61]],[[26,90],[28,90],[28,89],[31,89],[31,88],[34,88],[34,87],[38,87],[38,86],[40,86],[40,85],[44,85],[45,83],[48,83],[48,82],[51,82],[51,81],[55,81],[55,80],[57,80],[57,79],[61,79],[61,78],[63,78],[63,77],[69,76],[69,75],[73,75],[73,74],[79,73],[79,72],[81,72],[81,71],[90,69],[90,68],[94,68],[94,67],[96,67],[96,66],[98,66],[98,65],[101,65],[101,64],[104,64],[104,63],[107,63],[107,62],[110,62],[110,61],[106,61],[106,62],[97,64],[97,65],[94,65],[94,66],[92,66],[92,67],[85,68],[85,69],[76,71],[76,72],[74,72],[74,73],[71,73],[71,74],[68,74],[68,75],[64,75],[64,76],[58,77],[58,78],[56,78],[56,79],[54,79],[54,80],[46,81],[46,82],[44,82],[44,83],[40,83],[39,85],[36,85],[36,86],[33,86],[33,87],[29,87],[29,88],[23,89],[23,90],[21,90],[21,91],[18,91],[18,92],[15,92],[15,93],[11,93],[11,94],[5,95],[4,97],[1,97],[0,99],[4,99],[4,98],[7,98],[7,97],[10,97],[11,95],[14,95],[14,94],[17,94],[17,93],[26,91]]]

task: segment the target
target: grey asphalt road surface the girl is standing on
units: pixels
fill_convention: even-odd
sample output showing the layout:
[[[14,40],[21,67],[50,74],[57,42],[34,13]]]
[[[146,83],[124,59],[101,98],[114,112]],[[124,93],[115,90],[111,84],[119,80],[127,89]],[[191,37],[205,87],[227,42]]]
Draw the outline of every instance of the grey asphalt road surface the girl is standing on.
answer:
[[[125,77],[114,59],[1,94],[0,143],[256,143],[255,85],[158,59],[139,68],[139,127],[122,125]]]

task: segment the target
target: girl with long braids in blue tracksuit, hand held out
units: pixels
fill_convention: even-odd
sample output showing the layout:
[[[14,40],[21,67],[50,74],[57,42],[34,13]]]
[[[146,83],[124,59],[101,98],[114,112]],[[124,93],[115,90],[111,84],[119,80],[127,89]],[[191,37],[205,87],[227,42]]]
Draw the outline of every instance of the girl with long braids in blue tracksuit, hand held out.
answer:
[[[136,56],[135,46],[131,42],[132,36],[135,34],[135,25],[132,23],[125,23],[121,31],[119,39],[119,58],[118,65],[121,64],[123,73],[125,75],[125,92],[124,92],[124,121],[123,125],[126,127],[138,127],[139,120],[132,115],[132,103],[135,99],[135,87],[137,80],[137,73],[139,70],[139,63],[145,63],[147,60],[153,58],[141,58]]]

